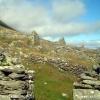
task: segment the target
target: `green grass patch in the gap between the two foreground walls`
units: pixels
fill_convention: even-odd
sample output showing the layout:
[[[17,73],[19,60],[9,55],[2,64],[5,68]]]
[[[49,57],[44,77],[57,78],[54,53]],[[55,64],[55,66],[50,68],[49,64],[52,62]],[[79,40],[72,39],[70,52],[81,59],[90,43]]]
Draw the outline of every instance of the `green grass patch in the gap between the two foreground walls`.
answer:
[[[73,81],[70,73],[60,72],[48,64],[32,64],[28,68],[36,71],[35,97],[36,100],[72,100]],[[44,84],[44,83],[47,84]],[[63,97],[62,93],[67,96]]]

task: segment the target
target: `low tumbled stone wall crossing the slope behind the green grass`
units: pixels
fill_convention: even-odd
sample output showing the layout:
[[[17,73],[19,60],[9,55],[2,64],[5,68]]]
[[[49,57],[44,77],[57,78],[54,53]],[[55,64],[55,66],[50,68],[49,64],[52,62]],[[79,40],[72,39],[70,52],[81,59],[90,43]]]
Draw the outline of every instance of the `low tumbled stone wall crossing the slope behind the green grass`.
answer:
[[[86,70],[86,68],[82,65],[72,65],[67,61],[64,61],[62,59],[57,59],[57,58],[32,56],[29,57],[29,60],[34,63],[48,63],[53,65],[54,67],[57,67],[61,71],[69,71],[77,76],[79,76],[81,73],[83,73]]]

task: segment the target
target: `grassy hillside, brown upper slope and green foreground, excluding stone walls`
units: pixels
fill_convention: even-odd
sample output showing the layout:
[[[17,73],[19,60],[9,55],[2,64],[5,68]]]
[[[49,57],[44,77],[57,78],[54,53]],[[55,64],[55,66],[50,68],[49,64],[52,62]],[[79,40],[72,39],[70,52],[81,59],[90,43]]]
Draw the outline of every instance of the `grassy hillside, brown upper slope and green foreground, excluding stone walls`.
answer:
[[[36,71],[36,100],[72,100],[73,82],[76,80],[72,73],[61,72],[49,64],[34,64],[27,58],[30,55],[60,58],[72,65],[81,64],[90,68],[96,63],[98,53],[94,50],[76,49],[70,46],[60,47],[44,40],[41,40],[40,46],[34,46],[32,40],[27,36],[21,38],[21,35],[13,30],[10,33],[12,34],[9,37],[0,34],[0,48],[12,57],[21,58],[26,68]],[[13,37],[13,33],[17,37]],[[62,96],[62,94],[66,94],[66,96]]]

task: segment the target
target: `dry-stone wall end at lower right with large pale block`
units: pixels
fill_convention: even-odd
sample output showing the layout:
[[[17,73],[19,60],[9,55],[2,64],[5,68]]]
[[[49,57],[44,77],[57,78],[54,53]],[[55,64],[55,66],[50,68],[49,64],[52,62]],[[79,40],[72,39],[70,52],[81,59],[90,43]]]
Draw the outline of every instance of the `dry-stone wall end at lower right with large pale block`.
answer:
[[[74,83],[73,100],[100,100],[100,64],[80,75]]]

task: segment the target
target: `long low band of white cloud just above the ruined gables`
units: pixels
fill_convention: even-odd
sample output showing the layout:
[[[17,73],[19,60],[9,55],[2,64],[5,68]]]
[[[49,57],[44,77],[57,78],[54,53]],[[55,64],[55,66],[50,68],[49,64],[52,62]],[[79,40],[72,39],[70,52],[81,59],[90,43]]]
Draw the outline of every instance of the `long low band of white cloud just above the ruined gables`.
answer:
[[[78,35],[78,34],[88,34],[91,32],[100,31],[100,22],[94,23],[63,23],[63,24],[49,24],[41,27],[34,27],[38,33],[41,33],[42,36],[68,36],[68,35]],[[45,34],[44,34],[45,32]]]

